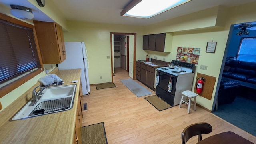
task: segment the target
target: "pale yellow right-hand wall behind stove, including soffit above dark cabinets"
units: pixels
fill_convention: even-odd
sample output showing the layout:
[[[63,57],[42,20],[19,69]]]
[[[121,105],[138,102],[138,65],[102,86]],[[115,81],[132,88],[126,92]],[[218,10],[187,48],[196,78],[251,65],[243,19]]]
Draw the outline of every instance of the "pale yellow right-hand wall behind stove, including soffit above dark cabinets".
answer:
[[[148,51],[148,54],[151,57],[156,56],[159,60],[165,58],[166,61],[170,62],[171,60],[176,59],[175,52],[177,47],[201,48],[200,59],[196,66],[195,75],[199,72],[214,76],[217,79],[212,94],[212,100],[198,96],[197,102],[205,108],[213,110],[214,97],[216,95],[215,92],[219,81],[219,75],[222,73],[220,70],[223,57],[225,57],[224,52],[230,26],[231,24],[256,21],[255,6],[256,2],[226,9],[224,7],[214,7],[201,12],[195,12],[179,18],[160,22],[158,24],[145,26],[144,34],[174,32],[171,53]],[[207,42],[211,41],[217,42],[214,54],[205,52]],[[201,70],[201,64],[208,66],[207,70]],[[194,79],[192,90],[194,90],[195,83],[196,80]]]

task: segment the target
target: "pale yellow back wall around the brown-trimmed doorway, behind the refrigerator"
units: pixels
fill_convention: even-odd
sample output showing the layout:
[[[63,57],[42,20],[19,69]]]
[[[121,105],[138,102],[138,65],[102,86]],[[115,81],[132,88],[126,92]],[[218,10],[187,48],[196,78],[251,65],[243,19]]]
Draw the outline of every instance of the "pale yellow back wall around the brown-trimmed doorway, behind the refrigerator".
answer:
[[[68,21],[69,32],[64,32],[65,42],[85,42],[88,51],[90,84],[111,82],[110,32],[136,33],[137,53],[142,50],[142,27],[115,24],[99,24],[78,21]],[[100,79],[102,76],[102,79]]]

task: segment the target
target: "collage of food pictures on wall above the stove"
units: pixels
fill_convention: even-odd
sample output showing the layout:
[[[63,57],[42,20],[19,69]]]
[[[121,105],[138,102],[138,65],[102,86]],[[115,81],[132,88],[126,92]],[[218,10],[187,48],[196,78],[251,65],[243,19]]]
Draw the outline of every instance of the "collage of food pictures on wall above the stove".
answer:
[[[201,48],[177,48],[176,60],[191,64],[198,64]]]

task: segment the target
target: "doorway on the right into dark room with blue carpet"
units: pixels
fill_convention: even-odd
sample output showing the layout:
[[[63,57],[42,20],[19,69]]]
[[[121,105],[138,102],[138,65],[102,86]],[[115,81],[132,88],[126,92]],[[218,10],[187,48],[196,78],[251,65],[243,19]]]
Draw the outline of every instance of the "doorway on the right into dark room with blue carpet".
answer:
[[[256,22],[249,22],[256,25]],[[242,69],[240,66],[232,66],[231,63],[239,62],[237,60],[239,54],[239,47],[242,38],[256,37],[255,30],[249,30],[250,35],[238,35],[240,24],[231,25],[230,32],[228,35],[228,40],[226,44],[226,49],[224,52],[224,57],[222,61],[222,68],[220,70],[220,77],[218,80],[218,86],[216,89],[216,96],[214,101],[216,103],[216,110],[213,112],[216,116],[230,122],[231,124],[245,130],[246,132],[256,136],[256,112],[254,106],[256,105],[255,92],[256,89],[250,88],[249,85],[246,85],[242,80],[236,78],[231,78],[232,73],[234,72],[236,76],[246,75],[248,77],[250,74],[244,73],[246,69]],[[242,62],[240,62],[241,64]],[[225,68],[226,67],[226,68]],[[242,69],[240,73],[236,73],[236,70]],[[247,76],[248,74],[248,76]],[[230,78],[230,79],[229,79]],[[224,88],[224,82],[227,81],[227,84],[235,84],[234,82],[239,82],[240,86],[230,87],[226,86]],[[221,89],[220,89],[221,87]],[[232,97],[233,96],[233,97]],[[219,97],[219,98],[217,98]],[[218,103],[218,99],[220,100]],[[214,109],[214,107],[212,108]]]

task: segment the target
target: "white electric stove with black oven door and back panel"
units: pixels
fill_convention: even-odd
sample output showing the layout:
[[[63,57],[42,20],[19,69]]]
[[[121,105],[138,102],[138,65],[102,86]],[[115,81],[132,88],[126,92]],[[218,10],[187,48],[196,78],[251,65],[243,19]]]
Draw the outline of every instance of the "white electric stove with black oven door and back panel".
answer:
[[[178,69],[172,68],[171,64],[173,67],[177,65]],[[157,68],[159,81],[156,86],[156,95],[171,106],[176,106],[180,104],[181,92],[192,89],[195,64],[176,60],[172,60],[171,64],[167,67]],[[168,88],[170,81],[172,81],[171,90]]]

